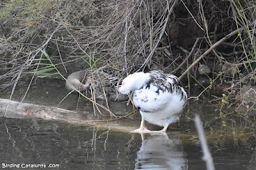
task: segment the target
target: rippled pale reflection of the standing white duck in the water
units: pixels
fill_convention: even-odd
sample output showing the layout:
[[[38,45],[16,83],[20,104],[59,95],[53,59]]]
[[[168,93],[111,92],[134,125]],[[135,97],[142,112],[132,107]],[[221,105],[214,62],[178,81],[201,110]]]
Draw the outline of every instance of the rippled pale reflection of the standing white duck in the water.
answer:
[[[141,134],[135,169],[188,169],[182,142],[175,134]]]

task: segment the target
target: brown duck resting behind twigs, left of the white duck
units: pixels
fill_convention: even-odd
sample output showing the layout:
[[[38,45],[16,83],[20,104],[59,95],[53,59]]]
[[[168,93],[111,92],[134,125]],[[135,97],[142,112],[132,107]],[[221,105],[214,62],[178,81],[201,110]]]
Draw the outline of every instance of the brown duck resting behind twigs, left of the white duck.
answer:
[[[127,95],[122,95],[117,91],[116,77],[111,77],[108,73],[102,70],[81,70],[71,73],[67,77],[66,88],[70,91],[80,91],[81,93],[87,91],[88,93],[95,93],[95,98],[114,101],[127,100]]]

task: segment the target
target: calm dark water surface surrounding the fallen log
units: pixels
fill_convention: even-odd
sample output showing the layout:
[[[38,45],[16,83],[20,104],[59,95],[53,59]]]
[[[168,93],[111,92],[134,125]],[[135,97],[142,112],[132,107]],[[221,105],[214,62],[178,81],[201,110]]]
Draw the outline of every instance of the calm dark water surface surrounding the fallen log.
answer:
[[[24,102],[56,106],[67,95],[62,81],[52,80],[51,88],[43,86],[44,81],[49,80],[42,79],[31,87]],[[24,87],[18,88],[19,93],[13,96],[17,101],[26,91]],[[1,98],[8,98],[8,95],[2,93]],[[109,106],[116,115],[132,110],[131,105],[127,107],[121,102]],[[77,104],[76,95],[70,95],[60,107],[77,111],[70,113],[70,117],[94,118],[90,102],[82,99]],[[138,128],[138,114],[110,123],[106,128],[38,118],[2,117],[0,168],[43,164],[53,166],[51,169],[205,169],[198,136],[190,119],[194,113],[200,114],[204,122],[216,169],[256,169],[255,129],[239,120],[223,125],[222,121],[214,119],[214,107],[203,102],[189,102],[180,122],[171,125],[167,135],[141,136],[111,128],[113,125]],[[159,129],[154,125],[148,128]]]

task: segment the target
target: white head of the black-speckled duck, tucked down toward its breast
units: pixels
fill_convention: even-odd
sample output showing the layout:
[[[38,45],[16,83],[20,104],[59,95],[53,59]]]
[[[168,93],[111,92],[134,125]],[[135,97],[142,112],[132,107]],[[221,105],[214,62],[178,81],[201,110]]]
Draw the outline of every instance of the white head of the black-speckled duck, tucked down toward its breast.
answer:
[[[150,79],[148,73],[138,72],[128,75],[123,81],[118,91],[127,95],[134,89],[141,88]]]

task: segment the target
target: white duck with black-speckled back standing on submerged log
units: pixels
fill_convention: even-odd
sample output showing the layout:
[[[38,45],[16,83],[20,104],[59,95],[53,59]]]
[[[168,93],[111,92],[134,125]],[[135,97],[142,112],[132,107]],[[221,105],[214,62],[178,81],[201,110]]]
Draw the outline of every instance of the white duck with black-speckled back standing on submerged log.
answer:
[[[145,121],[164,127],[157,132],[166,132],[170,123],[178,121],[188,98],[178,77],[160,70],[128,75],[119,88],[120,93],[133,93],[133,102],[140,110],[140,128],[137,133],[152,132],[145,126]]]

